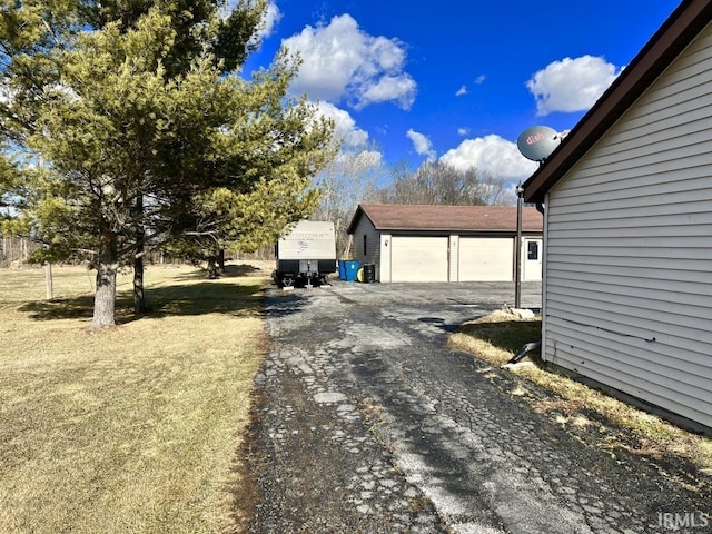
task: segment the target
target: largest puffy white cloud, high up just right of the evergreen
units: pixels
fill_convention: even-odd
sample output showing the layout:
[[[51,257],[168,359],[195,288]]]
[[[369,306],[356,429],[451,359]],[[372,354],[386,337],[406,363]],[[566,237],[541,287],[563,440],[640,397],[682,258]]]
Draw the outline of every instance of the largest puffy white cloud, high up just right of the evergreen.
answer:
[[[404,71],[406,50],[397,39],[362,31],[349,14],[334,17],[327,26],[307,26],[283,44],[301,58],[291,90],[314,99],[355,109],[390,101],[409,109],[417,85]]]

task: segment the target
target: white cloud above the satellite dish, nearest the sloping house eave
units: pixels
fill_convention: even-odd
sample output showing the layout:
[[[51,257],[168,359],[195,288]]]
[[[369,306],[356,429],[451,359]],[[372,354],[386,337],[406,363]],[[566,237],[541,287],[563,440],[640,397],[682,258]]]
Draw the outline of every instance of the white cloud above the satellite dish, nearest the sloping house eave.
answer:
[[[553,111],[584,111],[620,73],[621,69],[600,57],[564,58],[536,72],[526,87],[536,99],[540,116]]]

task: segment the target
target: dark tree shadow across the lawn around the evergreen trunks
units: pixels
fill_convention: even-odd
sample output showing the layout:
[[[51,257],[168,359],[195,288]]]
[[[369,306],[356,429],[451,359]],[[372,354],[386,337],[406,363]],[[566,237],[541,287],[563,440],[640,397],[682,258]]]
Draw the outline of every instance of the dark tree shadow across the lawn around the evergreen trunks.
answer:
[[[126,324],[141,317],[161,318],[205,314],[258,317],[264,313],[264,285],[220,284],[210,280],[190,285],[176,284],[148,288],[146,303],[149,310],[135,314],[132,294],[127,291],[117,294],[116,323]],[[91,318],[93,296],[33,301],[21,306],[19,310],[28,313],[37,320]]]

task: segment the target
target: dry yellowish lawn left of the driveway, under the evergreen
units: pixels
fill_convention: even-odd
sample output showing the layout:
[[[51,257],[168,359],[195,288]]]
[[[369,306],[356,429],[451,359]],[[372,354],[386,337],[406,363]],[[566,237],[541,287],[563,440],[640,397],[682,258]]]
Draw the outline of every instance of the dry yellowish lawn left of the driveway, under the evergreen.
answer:
[[[113,328],[91,332],[93,275],[0,270],[0,532],[215,533],[244,530],[240,444],[266,349],[268,278],[233,266],[146,271],[130,313],[119,278]]]

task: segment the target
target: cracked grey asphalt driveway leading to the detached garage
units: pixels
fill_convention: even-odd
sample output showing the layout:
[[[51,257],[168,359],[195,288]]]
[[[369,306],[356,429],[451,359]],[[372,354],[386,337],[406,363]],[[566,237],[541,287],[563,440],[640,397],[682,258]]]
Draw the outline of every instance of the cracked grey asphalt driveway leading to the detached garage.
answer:
[[[523,306],[540,291],[524,284]],[[512,394],[516,377],[446,346],[464,320],[512,301],[512,284],[271,290],[249,531],[710,532],[709,486],[586,446]]]

